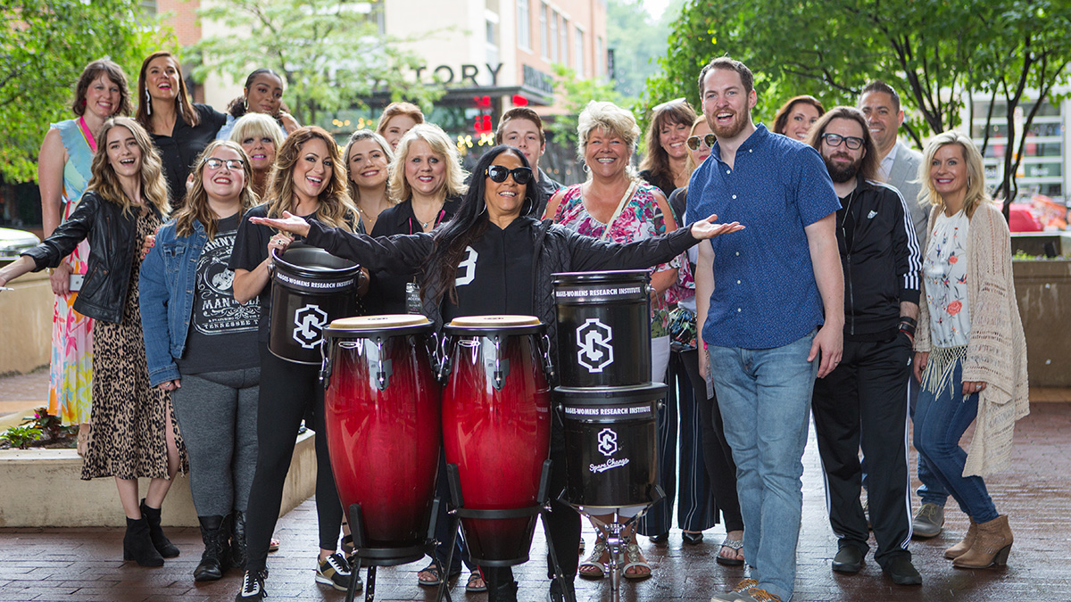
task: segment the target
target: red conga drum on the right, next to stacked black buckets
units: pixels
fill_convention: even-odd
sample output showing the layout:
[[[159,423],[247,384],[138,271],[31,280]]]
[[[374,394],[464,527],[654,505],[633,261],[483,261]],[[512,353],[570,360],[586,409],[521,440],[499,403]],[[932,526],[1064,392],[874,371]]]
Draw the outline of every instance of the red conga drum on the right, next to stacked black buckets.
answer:
[[[550,451],[543,325],[532,316],[472,316],[443,330],[442,443],[447,462],[457,465],[464,508],[534,507]],[[492,567],[528,560],[536,518],[463,516],[472,560]]]

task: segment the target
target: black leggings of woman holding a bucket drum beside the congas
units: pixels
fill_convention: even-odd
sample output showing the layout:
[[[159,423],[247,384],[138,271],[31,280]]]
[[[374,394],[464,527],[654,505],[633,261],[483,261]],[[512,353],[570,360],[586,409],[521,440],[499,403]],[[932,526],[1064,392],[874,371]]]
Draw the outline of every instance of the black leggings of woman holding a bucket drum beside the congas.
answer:
[[[283,503],[283,484],[290,469],[301,420],[312,412],[316,432],[316,514],[320,547],[335,550],[342,528],[342,503],[335,490],[323,431],[323,387],[319,366],[281,360],[260,343],[260,397],[257,408],[257,471],[246,512],[246,570],[265,569],[268,544]]]

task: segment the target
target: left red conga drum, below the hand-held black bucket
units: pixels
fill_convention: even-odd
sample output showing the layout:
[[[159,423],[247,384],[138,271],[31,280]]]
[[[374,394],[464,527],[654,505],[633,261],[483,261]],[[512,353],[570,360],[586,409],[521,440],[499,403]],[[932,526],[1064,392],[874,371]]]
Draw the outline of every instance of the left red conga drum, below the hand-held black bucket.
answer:
[[[441,388],[423,316],[361,316],[325,329],[325,417],[343,509],[361,506],[378,563],[423,556],[439,466]]]

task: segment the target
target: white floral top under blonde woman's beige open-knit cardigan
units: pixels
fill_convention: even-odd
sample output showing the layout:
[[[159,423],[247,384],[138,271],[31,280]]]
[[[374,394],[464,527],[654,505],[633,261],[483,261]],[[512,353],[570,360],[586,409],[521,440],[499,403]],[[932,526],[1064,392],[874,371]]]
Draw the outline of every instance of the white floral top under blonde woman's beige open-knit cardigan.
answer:
[[[937,215],[922,262],[930,336],[936,347],[962,347],[970,337],[967,304],[967,228],[964,211],[949,217]]]

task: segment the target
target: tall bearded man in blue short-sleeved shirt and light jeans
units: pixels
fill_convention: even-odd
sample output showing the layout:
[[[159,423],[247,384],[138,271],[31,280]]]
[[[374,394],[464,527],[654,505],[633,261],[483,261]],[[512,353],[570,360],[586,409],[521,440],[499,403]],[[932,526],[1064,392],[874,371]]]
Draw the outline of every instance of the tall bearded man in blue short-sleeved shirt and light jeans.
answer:
[[[814,149],[752,122],[753,82],[728,57],[703,69],[703,115],[718,141],[689,184],[687,222],[718,213],[745,227],[699,244],[695,273],[699,370],[736,461],[751,566],[715,602],[791,599],[811,394],[840,361],[844,330],[832,182]]]

